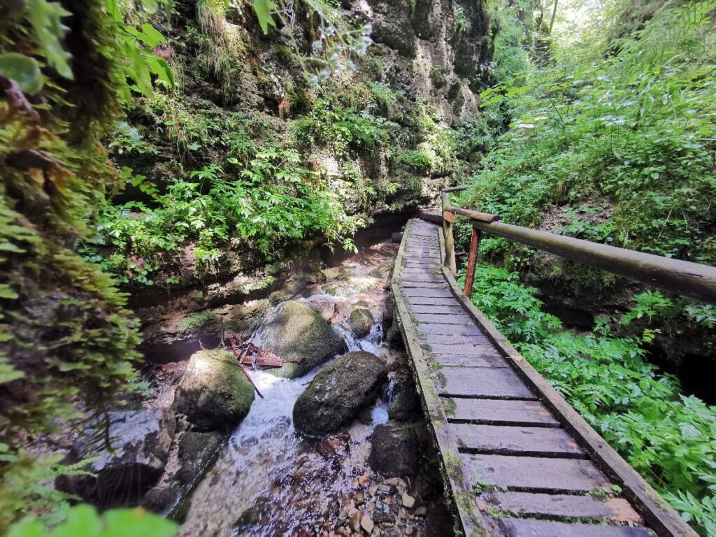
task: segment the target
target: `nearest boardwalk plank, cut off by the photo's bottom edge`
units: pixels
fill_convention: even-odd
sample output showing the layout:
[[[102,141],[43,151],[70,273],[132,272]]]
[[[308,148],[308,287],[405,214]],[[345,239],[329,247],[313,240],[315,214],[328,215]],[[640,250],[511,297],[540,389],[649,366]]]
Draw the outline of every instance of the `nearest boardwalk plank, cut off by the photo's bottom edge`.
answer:
[[[495,519],[508,537],[653,537],[647,528],[535,521],[522,518]]]

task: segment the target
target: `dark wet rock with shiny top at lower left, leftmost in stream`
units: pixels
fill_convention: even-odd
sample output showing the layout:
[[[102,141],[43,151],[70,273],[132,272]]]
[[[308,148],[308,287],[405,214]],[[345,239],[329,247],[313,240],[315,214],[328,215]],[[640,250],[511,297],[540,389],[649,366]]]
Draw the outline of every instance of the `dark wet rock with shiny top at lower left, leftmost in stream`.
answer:
[[[102,508],[136,505],[162,475],[175,427],[166,409],[110,412],[107,436],[102,424],[90,425],[63,461],[74,464],[97,457],[89,466],[92,475],[62,475],[55,484]],[[111,451],[105,437],[110,438]]]

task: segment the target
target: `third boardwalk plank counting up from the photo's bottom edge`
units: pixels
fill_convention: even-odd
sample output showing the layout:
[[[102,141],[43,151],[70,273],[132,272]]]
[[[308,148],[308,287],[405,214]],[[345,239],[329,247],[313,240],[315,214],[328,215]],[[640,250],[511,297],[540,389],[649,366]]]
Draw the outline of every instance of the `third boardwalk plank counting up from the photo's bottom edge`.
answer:
[[[461,453],[472,485],[545,493],[593,492],[609,480],[590,460]],[[576,535],[576,534],[575,534]]]

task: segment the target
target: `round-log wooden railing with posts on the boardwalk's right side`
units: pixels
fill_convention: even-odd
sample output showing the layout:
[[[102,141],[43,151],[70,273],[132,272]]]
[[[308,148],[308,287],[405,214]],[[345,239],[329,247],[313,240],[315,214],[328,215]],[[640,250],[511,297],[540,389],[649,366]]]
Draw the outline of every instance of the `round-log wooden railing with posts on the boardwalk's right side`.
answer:
[[[652,253],[643,253],[627,248],[616,248],[616,246],[583,241],[579,238],[565,237],[546,231],[512,226],[500,222],[500,217],[497,215],[469,211],[450,205],[450,192],[458,192],[466,188],[469,187],[445,188],[442,190],[441,199],[442,232],[445,235],[445,265],[448,266],[453,276],[457,274],[455,238],[453,236],[455,215],[470,218],[473,228],[463,291],[467,296],[470,296],[473,289],[480,238],[482,233],[489,233],[664,291],[716,305],[716,267],[655,256]]]

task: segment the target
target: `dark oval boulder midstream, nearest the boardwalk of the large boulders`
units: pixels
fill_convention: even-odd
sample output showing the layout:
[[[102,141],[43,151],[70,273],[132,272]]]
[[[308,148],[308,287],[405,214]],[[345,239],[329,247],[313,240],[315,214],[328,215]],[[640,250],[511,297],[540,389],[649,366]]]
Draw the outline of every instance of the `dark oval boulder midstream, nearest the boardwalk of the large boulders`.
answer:
[[[296,429],[311,436],[338,430],[375,400],[386,378],[387,368],[374,354],[344,354],[317,374],[296,400]]]

